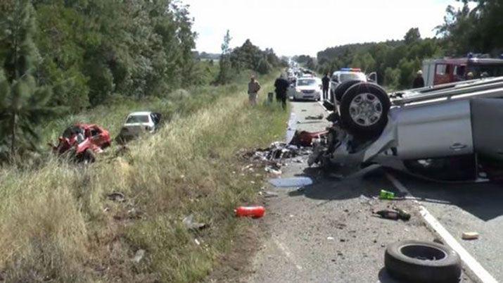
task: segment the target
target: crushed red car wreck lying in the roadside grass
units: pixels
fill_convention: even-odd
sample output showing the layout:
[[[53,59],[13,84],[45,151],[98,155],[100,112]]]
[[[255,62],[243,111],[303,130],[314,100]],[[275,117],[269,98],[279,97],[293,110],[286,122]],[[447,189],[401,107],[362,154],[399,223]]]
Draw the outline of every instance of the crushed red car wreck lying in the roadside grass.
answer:
[[[66,154],[77,162],[91,163],[96,160],[95,153],[101,153],[110,146],[110,133],[98,125],[75,124],[68,127],[58,145],[49,144],[54,153]]]

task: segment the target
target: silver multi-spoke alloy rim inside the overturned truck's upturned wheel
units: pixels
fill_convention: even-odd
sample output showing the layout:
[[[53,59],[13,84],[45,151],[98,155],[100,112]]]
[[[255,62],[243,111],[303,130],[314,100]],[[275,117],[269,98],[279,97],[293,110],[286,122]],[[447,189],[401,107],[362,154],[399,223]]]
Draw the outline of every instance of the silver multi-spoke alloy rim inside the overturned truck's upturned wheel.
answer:
[[[351,119],[358,125],[374,125],[381,115],[383,115],[383,105],[374,94],[358,94],[350,103]]]

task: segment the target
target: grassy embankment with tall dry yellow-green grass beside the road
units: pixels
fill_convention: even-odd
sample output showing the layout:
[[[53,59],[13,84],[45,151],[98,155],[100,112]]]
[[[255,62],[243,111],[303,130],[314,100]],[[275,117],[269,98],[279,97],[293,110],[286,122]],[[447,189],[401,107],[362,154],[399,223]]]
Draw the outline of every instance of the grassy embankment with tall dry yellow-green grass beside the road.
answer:
[[[260,78],[261,101],[272,79]],[[8,282],[203,279],[250,225],[233,209],[253,203],[263,180],[262,172],[241,174],[236,151],[284,137],[288,113],[262,103],[250,108],[245,88],[210,87],[172,106],[125,102],[47,125],[61,131],[69,121],[94,121],[116,134],[132,106],[158,110],[165,103],[163,113],[172,116],[122,156],[110,148],[88,168],[54,158],[30,170],[0,168],[0,275]],[[108,200],[113,191],[126,201]],[[187,230],[182,219],[190,214],[210,227]],[[139,249],[146,253],[135,263]]]

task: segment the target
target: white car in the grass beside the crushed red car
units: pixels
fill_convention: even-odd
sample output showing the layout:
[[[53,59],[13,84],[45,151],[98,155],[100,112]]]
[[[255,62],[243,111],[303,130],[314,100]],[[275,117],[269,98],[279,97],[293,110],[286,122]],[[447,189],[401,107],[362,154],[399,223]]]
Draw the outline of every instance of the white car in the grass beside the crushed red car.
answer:
[[[117,142],[126,142],[139,137],[144,132],[154,133],[160,125],[161,115],[150,111],[133,112],[127,115],[126,122],[122,125]]]

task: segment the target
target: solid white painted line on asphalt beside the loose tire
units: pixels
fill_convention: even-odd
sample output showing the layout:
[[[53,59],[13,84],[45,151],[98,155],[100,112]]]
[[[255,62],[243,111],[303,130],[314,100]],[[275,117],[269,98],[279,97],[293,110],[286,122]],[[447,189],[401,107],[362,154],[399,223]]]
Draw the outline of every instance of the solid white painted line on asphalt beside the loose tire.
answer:
[[[400,192],[407,194],[408,196],[412,196],[409,190],[393,175],[386,173],[386,177]],[[421,206],[421,203],[419,203],[419,201],[414,202],[419,204],[421,216],[426,221],[426,223],[428,223],[428,225],[440,235],[447,246],[450,246],[451,249],[459,254],[459,257],[461,258],[461,260],[463,260],[464,264],[468,266],[468,268],[470,268],[473,274],[475,274],[481,282],[497,283],[495,277],[492,277],[492,275],[490,275],[490,273],[485,270],[483,266],[480,265],[480,263],[478,263],[478,261],[473,258],[473,256],[471,256],[471,254],[466,251],[466,249],[464,249],[464,247],[461,246],[461,244],[459,244],[456,239],[454,239],[454,237],[452,237],[447,229],[445,229],[445,227],[443,227],[442,224],[440,224],[440,222],[438,222],[438,220],[433,215],[431,215],[431,213],[424,206]]]

